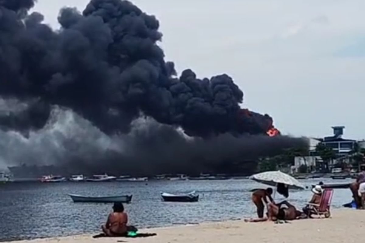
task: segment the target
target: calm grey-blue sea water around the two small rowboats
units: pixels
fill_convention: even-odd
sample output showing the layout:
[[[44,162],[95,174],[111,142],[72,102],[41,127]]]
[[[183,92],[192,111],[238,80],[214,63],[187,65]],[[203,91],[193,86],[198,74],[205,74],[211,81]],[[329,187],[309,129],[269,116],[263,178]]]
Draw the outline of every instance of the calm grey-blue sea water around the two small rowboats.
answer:
[[[351,180],[303,180],[310,186]],[[13,183],[0,185],[0,241],[94,233],[106,220],[111,204],[73,203],[68,193],[81,195],[132,194],[126,204],[130,223],[137,227],[161,227],[255,216],[250,201],[253,188],[265,185],[250,180],[149,181],[107,183]],[[160,192],[200,194],[197,203],[167,203]],[[291,191],[288,200],[302,208],[311,191]],[[283,199],[276,196],[277,200]],[[333,207],[351,201],[349,189],[335,189]]]

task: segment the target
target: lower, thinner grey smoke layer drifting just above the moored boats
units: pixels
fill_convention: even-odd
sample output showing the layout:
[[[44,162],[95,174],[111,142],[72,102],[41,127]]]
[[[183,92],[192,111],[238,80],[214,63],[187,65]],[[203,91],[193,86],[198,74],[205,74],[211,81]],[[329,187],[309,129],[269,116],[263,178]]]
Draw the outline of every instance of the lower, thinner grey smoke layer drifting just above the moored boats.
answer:
[[[150,118],[133,121],[128,134],[107,136],[64,108],[54,107],[50,117],[44,128],[31,132],[28,138],[14,131],[0,132],[0,161],[28,166],[55,164],[59,167],[49,173],[64,175],[251,173],[256,167],[249,162],[258,157],[307,145],[304,139],[285,136],[235,137],[228,133],[204,140]],[[240,171],[230,167],[235,164]]]

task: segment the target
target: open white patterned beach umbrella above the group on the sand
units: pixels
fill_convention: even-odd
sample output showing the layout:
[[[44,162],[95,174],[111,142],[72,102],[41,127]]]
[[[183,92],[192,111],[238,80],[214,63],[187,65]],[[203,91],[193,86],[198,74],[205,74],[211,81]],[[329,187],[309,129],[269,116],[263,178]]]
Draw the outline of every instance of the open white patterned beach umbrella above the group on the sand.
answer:
[[[304,186],[297,179],[281,171],[261,172],[250,176],[249,179],[273,187],[277,187],[277,184],[282,183],[287,185],[289,189],[304,189]]]

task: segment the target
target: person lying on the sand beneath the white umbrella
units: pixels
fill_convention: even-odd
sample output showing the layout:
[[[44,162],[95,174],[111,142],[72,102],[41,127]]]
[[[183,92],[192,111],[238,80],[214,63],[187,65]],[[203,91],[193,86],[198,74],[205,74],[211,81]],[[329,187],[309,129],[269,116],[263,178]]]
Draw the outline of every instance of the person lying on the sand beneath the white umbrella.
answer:
[[[282,206],[286,207],[282,207]],[[277,220],[295,220],[304,219],[307,216],[297,210],[294,205],[288,203],[288,201],[282,201],[281,203],[268,204],[268,217],[259,219],[246,219],[245,222],[262,222],[262,221],[277,221]]]

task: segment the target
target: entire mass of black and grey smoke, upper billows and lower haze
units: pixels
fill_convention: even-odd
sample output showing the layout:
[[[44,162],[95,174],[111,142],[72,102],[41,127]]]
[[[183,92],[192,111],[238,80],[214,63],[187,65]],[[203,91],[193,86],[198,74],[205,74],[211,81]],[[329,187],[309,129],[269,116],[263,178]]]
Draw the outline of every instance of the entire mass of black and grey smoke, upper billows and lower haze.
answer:
[[[157,45],[158,20],[132,3],[61,9],[57,31],[28,14],[33,6],[0,0],[3,164],[198,171],[306,146],[266,136],[272,118],[241,109],[243,92],[228,75],[178,77]]]

